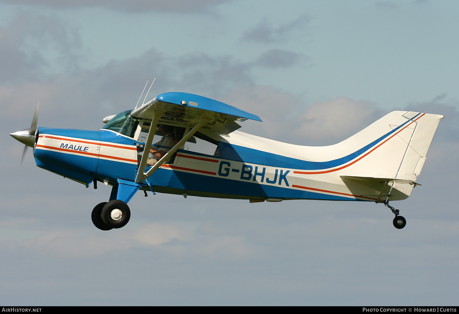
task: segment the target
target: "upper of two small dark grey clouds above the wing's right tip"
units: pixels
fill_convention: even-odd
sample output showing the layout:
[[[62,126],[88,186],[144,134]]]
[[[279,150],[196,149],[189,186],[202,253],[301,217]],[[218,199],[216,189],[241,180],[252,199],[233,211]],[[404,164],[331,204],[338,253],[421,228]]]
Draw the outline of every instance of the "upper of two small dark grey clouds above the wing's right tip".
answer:
[[[263,21],[255,28],[247,30],[242,36],[242,41],[253,41],[264,44],[285,40],[291,32],[302,31],[309,22],[309,17],[302,15],[290,23],[274,27],[267,21]]]

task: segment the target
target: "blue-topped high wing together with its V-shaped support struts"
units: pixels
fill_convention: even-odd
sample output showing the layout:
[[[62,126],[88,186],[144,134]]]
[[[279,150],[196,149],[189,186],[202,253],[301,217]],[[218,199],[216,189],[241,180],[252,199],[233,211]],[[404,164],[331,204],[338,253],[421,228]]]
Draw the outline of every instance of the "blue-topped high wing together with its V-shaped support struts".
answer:
[[[202,127],[209,128],[221,135],[228,135],[241,126],[235,121],[252,119],[260,121],[258,116],[242,111],[233,106],[210,98],[188,93],[165,93],[148,101],[131,112],[133,118],[151,120],[150,130],[145,143],[145,151],[149,151],[153,135],[158,123],[184,127],[186,134],[146,173],[148,154],[143,154],[134,185],[148,178],[163,163],[191,138]]]

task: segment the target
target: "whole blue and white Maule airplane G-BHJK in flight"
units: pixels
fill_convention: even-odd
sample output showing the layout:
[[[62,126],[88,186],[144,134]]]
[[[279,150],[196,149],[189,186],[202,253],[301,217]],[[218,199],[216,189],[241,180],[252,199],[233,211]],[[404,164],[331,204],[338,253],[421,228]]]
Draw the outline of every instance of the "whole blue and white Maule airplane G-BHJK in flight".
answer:
[[[145,90],[145,89],[144,89]],[[145,100],[144,100],[145,101]],[[394,111],[357,134],[330,146],[301,146],[239,131],[238,122],[262,122],[249,112],[203,96],[169,92],[139,108],[103,119],[98,131],[37,128],[10,135],[34,148],[35,163],[86,187],[111,185],[108,202],[97,204],[93,224],[100,230],[126,225],[129,200],[142,190],[281,202],[329,200],[383,203],[410,196],[442,115]],[[153,143],[168,129],[173,144]],[[166,136],[166,135],[164,135]],[[200,140],[210,148],[189,149]],[[154,147],[154,148],[152,148]],[[162,151],[155,157],[148,153]],[[22,156],[22,157],[23,157]],[[151,160],[154,160],[151,162]]]

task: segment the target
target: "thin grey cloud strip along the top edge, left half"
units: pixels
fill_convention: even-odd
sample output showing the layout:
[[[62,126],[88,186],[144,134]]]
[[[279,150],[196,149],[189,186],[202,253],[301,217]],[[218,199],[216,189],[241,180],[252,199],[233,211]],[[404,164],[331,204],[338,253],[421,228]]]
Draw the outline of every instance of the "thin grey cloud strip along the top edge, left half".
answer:
[[[0,0],[0,3],[11,3],[27,6],[47,6],[51,8],[104,7],[110,10],[126,12],[177,11],[193,12],[207,6],[218,5],[230,0]]]

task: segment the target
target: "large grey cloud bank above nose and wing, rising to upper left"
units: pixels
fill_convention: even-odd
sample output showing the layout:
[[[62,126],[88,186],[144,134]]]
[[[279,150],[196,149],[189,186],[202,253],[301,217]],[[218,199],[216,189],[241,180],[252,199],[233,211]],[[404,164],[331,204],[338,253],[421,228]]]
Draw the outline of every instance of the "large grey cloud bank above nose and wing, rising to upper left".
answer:
[[[29,28],[22,25],[23,19],[30,21]],[[134,107],[145,80],[153,76],[157,76],[157,80],[149,98],[163,92],[183,91],[218,100],[228,99],[229,104],[236,106],[243,103],[244,107],[256,107],[265,102],[271,108],[269,114],[283,114],[285,110],[280,110],[279,106],[271,107],[270,99],[283,101],[282,98],[290,99],[291,95],[270,92],[272,87],[256,87],[252,71],[259,66],[272,69],[291,67],[304,58],[302,54],[273,49],[253,61],[241,62],[233,56],[205,53],[172,57],[152,48],[139,57],[111,61],[87,70],[78,67],[81,50],[78,35],[57,18],[29,18],[28,13],[21,13],[0,32],[7,39],[0,43],[0,50],[3,45],[4,51],[12,50],[13,55],[20,56],[17,62],[0,57],[0,64],[6,65],[6,71],[0,73],[0,104],[8,114],[5,126],[13,123],[13,117],[22,119],[24,113],[28,117],[29,112],[31,116],[36,102],[40,101],[40,126],[97,128],[101,125],[101,118]],[[28,42],[34,42],[35,47],[38,45],[43,51],[53,48],[56,58],[50,60],[47,54],[40,53],[40,49],[24,52],[22,47]],[[38,51],[34,60],[28,55],[31,51]],[[60,72],[52,71],[55,63],[60,64]],[[12,74],[7,74],[8,66],[11,66]],[[68,71],[70,68],[73,70]],[[25,74],[20,74],[21,71]],[[263,110],[261,106],[258,108]],[[28,118],[26,120],[28,124]],[[279,118],[269,120],[277,123],[275,121]],[[52,124],[46,124],[47,121]]]

